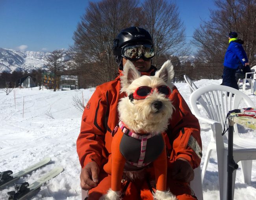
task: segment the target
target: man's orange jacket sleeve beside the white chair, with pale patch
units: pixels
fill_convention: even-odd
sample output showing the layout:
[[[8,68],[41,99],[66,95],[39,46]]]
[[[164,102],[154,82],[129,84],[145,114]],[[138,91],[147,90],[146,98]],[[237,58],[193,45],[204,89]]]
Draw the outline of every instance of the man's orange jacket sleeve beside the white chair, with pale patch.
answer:
[[[202,157],[202,141],[198,119],[191,113],[176,87],[173,88],[170,98],[175,107],[169,128],[166,131],[169,149],[173,148],[170,152],[171,155],[169,155],[170,162],[173,163],[178,158],[184,158],[195,169],[200,165]]]

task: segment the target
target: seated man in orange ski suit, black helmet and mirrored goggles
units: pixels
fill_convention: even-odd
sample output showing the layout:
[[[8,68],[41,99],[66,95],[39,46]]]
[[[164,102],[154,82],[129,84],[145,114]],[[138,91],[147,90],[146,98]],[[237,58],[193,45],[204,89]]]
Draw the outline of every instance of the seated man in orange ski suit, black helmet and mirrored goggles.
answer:
[[[127,49],[138,54],[129,54]],[[127,59],[131,60],[142,75],[153,76],[156,68],[151,65],[154,44],[148,31],[130,27],[122,30],[114,39],[113,53],[119,64],[119,76],[96,87],[85,106],[81,131],[77,139],[77,153],[82,167],[81,187],[89,190],[88,200],[98,200],[111,187],[111,175],[103,170],[111,154],[112,134],[119,122],[117,104],[125,94],[120,93],[120,76]],[[167,187],[179,200],[197,199],[189,187],[194,178],[193,169],[200,165],[202,141],[197,118],[191,113],[178,89],[173,88],[169,96],[175,111],[165,131],[167,150]],[[144,181],[124,181],[123,200],[153,200],[154,170],[147,168]]]

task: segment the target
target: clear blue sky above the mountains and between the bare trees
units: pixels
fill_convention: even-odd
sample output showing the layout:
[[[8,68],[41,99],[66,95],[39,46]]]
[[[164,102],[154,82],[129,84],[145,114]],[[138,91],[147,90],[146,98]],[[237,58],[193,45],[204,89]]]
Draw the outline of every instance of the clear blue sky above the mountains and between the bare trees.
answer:
[[[94,0],[95,1],[95,0]],[[98,1],[98,0],[96,0]],[[0,47],[53,51],[69,48],[88,0],[0,0]],[[209,19],[213,0],[175,0],[186,26],[186,39]]]

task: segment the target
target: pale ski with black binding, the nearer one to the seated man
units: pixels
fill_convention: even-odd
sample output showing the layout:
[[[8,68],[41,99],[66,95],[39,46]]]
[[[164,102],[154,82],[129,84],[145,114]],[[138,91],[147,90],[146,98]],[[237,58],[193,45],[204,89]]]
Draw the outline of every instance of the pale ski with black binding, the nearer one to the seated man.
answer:
[[[63,167],[55,167],[50,172],[33,182],[31,185],[28,182],[15,184],[15,191],[8,192],[8,200],[25,200],[30,198],[40,187],[48,180],[54,178],[63,171]]]

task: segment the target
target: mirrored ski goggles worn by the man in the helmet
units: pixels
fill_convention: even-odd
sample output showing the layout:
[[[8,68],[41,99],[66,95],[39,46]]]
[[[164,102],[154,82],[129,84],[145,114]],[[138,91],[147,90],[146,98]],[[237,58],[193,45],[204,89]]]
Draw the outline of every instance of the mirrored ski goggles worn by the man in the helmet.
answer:
[[[149,60],[155,56],[155,50],[151,44],[125,45],[122,47],[121,54],[122,57],[131,61],[136,61],[140,58]]]

